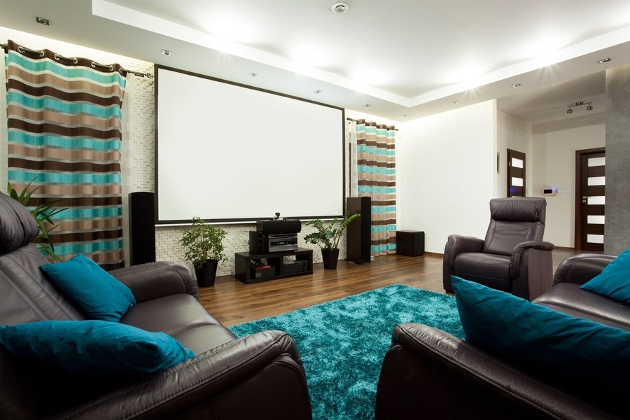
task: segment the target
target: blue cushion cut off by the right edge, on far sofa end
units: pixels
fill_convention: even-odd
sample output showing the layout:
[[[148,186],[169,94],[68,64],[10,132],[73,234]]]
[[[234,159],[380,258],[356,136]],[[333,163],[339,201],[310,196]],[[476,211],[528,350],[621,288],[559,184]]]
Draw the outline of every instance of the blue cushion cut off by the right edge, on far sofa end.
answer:
[[[601,273],[580,288],[630,303],[630,248],[620,253]]]

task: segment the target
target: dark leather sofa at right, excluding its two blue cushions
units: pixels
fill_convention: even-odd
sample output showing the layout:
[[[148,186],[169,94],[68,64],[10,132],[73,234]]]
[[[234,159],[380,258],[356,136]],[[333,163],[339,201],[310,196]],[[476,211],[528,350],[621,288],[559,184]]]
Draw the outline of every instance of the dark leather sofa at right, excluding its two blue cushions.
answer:
[[[556,269],[554,286],[533,302],[630,330],[629,304],[579,287],[613,259],[567,258]],[[404,323],[394,328],[381,367],[376,419],[627,419],[627,392],[612,395],[586,378],[570,383],[517,367],[441,330]]]

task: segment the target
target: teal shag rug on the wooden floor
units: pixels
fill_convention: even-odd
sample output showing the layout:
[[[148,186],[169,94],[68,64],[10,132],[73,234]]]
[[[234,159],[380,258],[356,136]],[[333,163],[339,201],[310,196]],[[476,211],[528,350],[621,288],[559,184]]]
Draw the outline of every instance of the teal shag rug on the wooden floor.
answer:
[[[237,337],[281,330],[295,339],[313,419],[374,419],[381,363],[395,325],[423,323],[463,337],[455,298],[395,284],[230,328]]]

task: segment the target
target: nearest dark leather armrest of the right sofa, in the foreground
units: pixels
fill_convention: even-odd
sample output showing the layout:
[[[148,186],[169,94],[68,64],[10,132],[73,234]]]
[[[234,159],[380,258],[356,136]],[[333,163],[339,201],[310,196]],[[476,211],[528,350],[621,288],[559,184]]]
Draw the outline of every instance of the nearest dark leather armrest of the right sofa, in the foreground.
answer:
[[[615,419],[601,409],[428,325],[393,331],[376,420]]]

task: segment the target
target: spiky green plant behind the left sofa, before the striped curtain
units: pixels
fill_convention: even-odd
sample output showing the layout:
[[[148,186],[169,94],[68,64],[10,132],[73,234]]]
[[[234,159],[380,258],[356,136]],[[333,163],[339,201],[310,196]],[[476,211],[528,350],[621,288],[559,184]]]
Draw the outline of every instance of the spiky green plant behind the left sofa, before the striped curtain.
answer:
[[[8,195],[10,195],[13,200],[16,200],[17,202],[22,204],[22,206],[29,208],[28,204],[31,200],[31,195],[33,195],[33,193],[39,188],[39,186],[36,186],[29,191],[29,188],[33,181],[29,182],[21,193],[18,193],[18,191],[16,191],[10,183],[7,183]],[[55,253],[55,246],[52,244],[52,237],[50,236],[50,232],[53,229],[57,228],[57,226],[59,226],[55,225],[55,222],[52,221],[52,217],[68,209],[67,207],[64,207],[63,209],[53,207],[60,201],[62,201],[62,199],[52,200],[50,202],[39,204],[37,207],[29,209],[31,215],[33,215],[33,218],[39,226],[39,235],[37,235],[34,241],[35,246],[39,249],[41,253],[43,253],[44,255],[50,255],[50,257],[57,262],[61,261],[61,258],[59,258],[59,256]]]

